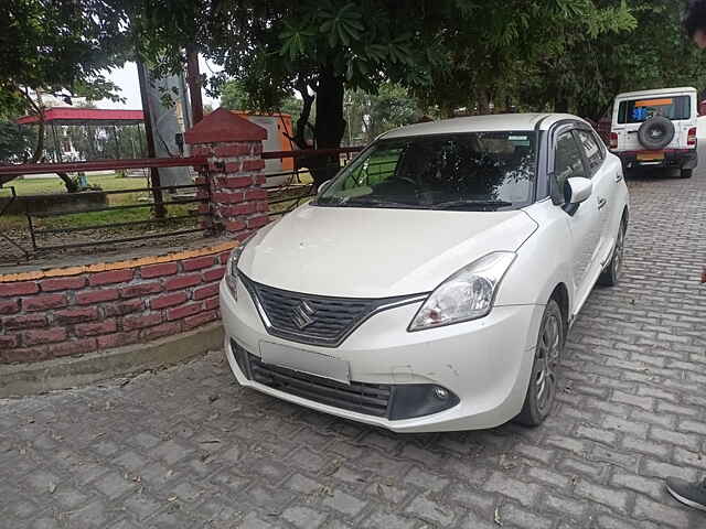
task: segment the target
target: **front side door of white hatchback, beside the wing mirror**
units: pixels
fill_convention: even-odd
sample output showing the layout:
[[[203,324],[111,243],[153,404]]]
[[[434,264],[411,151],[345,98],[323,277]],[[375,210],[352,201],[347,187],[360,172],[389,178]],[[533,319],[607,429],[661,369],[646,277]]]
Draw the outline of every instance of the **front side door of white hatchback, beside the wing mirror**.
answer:
[[[589,177],[590,174],[573,127],[565,127],[557,131],[554,141],[554,177],[557,188],[566,190],[567,180],[576,176]],[[565,204],[564,210],[571,234],[571,240],[567,242],[571,252],[575,313],[596,281],[595,263],[601,236],[596,194],[592,193],[578,207]]]

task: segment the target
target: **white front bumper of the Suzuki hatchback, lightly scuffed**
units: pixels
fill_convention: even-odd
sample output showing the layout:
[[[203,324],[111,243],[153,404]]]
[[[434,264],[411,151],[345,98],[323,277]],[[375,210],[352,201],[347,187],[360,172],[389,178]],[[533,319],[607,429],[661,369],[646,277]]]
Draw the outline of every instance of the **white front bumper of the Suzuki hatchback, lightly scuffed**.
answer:
[[[395,432],[485,429],[513,419],[525,399],[544,306],[498,306],[481,320],[409,333],[407,326],[418,309],[415,303],[377,313],[339,347],[319,347],[271,336],[243,284],[238,284],[236,301],[225,282],[221,283],[225,352],[243,386]],[[392,420],[302,398],[248,378],[242,363],[238,365],[234,344],[259,363],[263,343],[344,360],[356,384],[439,386],[457,396],[458,403],[428,415]]]

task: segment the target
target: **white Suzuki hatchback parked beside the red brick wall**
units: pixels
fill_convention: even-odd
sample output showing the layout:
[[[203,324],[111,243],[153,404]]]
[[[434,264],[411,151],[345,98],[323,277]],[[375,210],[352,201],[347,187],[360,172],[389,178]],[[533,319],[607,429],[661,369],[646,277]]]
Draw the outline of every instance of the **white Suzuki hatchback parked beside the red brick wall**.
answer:
[[[243,386],[396,432],[537,425],[627,226],[620,160],[579,118],[394,130],[234,250],[227,359]]]

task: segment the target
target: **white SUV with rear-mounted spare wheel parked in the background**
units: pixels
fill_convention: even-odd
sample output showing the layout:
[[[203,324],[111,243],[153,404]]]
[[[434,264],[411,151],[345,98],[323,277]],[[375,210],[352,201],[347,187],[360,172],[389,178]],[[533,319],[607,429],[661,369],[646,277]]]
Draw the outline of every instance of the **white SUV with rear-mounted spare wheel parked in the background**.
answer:
[[[620,94],[613,105],[610,150],[625,169],[676,168],[689,179],[696,168],[696,88]]]

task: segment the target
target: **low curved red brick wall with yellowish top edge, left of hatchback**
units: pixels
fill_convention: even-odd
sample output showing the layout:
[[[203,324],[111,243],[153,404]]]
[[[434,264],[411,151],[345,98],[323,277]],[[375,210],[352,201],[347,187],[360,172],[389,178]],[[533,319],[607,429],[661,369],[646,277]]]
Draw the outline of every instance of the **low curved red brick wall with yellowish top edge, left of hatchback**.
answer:
[[[233,246],[0,277],[0,364],[111,349],[218,320]]]

